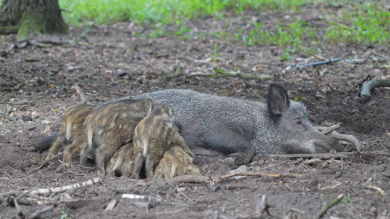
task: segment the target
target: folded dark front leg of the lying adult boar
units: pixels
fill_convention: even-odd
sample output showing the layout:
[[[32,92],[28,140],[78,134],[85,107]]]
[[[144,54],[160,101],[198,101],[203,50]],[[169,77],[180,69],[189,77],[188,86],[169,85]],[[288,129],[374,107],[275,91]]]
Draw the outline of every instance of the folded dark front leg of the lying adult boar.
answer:
[[[204,135],[203,144],[203,147],[229,153],[238,166],[248,164],[256,154],[255,146],[245,136],[231,130],[208,132]]]

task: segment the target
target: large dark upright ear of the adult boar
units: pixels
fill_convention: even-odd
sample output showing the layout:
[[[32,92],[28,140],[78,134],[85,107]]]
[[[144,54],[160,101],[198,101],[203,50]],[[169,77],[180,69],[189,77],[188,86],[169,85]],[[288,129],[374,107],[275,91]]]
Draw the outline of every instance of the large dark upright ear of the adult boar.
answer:
[[[267,105],[272,118],[279,117],[285,109],[289,108],[290,100],[282,86],[277,83],[269,85]]]

